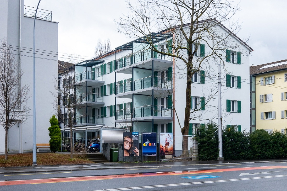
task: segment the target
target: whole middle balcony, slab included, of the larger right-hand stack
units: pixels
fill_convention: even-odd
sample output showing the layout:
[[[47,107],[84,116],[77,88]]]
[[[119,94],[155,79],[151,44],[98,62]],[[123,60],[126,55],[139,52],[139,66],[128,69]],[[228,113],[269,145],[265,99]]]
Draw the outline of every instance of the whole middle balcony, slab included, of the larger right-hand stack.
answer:
[[[152,83],[152,76],[148,76],[133,82],[117,84],[115,97],[132,98],[134,93],[152,95],[152,90],[156,90],[154,96],[163,96],[172,91],[172,78],[154,76],[153,81]]]

